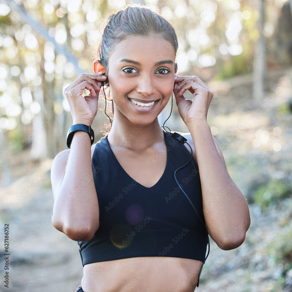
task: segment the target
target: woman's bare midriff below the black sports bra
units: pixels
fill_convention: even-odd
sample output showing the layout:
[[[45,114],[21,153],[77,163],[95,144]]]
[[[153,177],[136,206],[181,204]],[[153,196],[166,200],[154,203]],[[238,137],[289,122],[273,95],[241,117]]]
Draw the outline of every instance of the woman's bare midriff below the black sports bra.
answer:
[[[194,292],[202,262],[135,257],[84,265],[84,292]]]

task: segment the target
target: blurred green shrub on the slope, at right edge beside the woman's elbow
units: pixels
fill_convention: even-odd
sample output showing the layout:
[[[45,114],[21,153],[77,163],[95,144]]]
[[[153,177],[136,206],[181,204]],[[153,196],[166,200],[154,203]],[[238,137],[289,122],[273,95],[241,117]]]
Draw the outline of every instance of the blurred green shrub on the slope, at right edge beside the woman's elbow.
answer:
[[[284,198],[291,195],[291,184],[271,181],[268,185],[260,186],[253,197],[254,202],[259,204],[262,209],[267,209],[277,198]]]

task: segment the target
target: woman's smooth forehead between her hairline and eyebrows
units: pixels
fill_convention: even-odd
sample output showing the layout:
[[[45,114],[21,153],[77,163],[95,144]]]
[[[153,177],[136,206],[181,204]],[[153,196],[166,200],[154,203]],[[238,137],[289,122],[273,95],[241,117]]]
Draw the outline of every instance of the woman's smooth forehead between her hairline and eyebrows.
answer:
[[[109,57],[109,65],[116,64],[122,59],[140,62],[142,65],[154,65],[161,60],[175,61],[175,50],[169,41],[162,36],[128,36],[119,42]]]

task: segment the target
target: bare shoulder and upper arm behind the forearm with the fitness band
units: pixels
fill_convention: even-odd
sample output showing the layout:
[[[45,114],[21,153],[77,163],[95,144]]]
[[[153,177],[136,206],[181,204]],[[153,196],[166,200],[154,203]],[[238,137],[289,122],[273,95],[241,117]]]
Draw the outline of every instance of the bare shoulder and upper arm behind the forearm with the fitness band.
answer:
[[[91,146],[91,158],[95,149],[95,144]],[[54,199],[56,198],[60,187],[62,185],[65,173],[66,173],[66,167],[68,163],[68,158],[70,154],[70,149],[65,149],[61,152],[59,152],[52,163],[51,167],[51,185],[53,190]]]

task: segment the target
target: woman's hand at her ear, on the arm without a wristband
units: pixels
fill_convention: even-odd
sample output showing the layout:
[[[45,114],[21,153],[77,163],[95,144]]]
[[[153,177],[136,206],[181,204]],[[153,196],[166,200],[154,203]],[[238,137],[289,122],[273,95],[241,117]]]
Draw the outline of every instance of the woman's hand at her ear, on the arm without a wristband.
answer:
[[[207,120],[209,105],[214,96],[213,92],[197,76],[178,76],[175,74],[175,95],[178,112],[186,125],[197,119]],[[194,100],[185,99],[183,94],[189,90]]]

